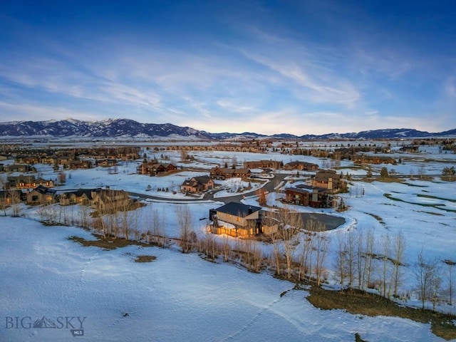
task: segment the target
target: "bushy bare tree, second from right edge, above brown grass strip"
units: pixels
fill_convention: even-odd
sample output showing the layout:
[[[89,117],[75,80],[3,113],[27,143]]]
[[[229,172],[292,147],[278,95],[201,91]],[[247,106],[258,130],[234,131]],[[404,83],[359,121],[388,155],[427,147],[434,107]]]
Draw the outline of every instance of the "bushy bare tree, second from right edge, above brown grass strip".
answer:
[[[427,259],[423,249],[421,249],[412,271],[417,281],[422,309],[425,309],[426,299],[432,297],[432,289],[435,289],[438,284],[437,278],[439,274],[437,265],[438,260]]]

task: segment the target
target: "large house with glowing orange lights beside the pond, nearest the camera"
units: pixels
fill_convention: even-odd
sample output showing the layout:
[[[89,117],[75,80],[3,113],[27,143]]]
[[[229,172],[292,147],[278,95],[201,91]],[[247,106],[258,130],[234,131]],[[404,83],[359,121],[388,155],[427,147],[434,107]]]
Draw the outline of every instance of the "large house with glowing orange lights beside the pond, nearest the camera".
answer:
[[[271,234],[278,225],[266,226],[262,222],[261,207],[237,202],[229,202],[217,209],[211,209],[211,231],[214,234],[227,234],[232,237],[249,237],[257,234]]]

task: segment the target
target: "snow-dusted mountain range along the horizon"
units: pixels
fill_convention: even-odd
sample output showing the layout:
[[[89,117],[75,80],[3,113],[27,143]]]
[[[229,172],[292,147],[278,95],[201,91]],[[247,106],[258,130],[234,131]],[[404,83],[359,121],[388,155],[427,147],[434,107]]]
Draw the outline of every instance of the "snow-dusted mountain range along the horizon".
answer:
[[[324,135],[292,135],[287,133],[261,135],[257,133],[208,133],[171,123],[138,123],[130,119],[108,119],[83,121],[74,119],[47,121],[13,121],[0,123],[0,137],[41,138],[192,138],[198,140],[224,140],[242,138],[278,139],[398,139],[455,137],[456,129],[440,133],[429,133],[410,128],[365,130],[358,133],[328,133]]]

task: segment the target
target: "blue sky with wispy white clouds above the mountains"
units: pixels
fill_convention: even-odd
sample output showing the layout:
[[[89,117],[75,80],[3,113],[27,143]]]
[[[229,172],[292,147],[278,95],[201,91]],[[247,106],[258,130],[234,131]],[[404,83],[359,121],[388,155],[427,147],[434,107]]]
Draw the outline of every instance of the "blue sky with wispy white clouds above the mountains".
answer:
[[[456,128],[454,1],[2,1],[1,121]]]

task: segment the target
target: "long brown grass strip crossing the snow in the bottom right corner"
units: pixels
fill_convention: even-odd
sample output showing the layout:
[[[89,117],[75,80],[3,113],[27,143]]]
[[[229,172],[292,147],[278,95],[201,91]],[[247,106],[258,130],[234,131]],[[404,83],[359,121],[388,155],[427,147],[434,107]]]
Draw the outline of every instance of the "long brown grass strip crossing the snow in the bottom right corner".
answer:
[[[328,291],[312,286],[309,302],[323,310],[342,309],[351,314],[366,316],[395,316],[408,318],[419,323],[430,323],[432,333],[451,340],[456,338],[455,316],[439,314],[430,310],[399,306],[389,299],[358,290]]]

